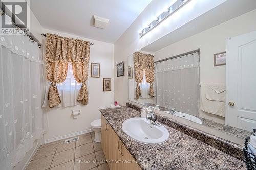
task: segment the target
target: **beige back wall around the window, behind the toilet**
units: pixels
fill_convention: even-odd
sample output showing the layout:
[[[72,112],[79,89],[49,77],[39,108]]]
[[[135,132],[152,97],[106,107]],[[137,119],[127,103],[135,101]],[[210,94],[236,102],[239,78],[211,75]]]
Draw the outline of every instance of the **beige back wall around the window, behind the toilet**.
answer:
[[[87,81],[87,88],[89,93],[88,105],[77,105],[74,107],[61,107],[44,109],[43,114],[46,114],[49,131],[44,135],[46,142],[58,140],[60,138],[67,138],[79,133],[92,131],[90,123],[100,118],[99,109],[109,108],[111,103],[114,103],[114,82],[113,82],[113,44],[96,41],[84,37],[78,37],[53,30],[43,30],[44,33],[53,33],[60,36],[66,36],[76,39],[83,39],[92,42],[90,63],[100,63],[100,78],[90,77],[90,63],[89,63],[89,77]],[[44,40],[45,46],[45,40]],[[45,54],[45,49],[44,49]],[[103,78],[112,79],[112,91],[103,92]],[[72,110],[81,110],[81,115],[78,119],[73,119]]]

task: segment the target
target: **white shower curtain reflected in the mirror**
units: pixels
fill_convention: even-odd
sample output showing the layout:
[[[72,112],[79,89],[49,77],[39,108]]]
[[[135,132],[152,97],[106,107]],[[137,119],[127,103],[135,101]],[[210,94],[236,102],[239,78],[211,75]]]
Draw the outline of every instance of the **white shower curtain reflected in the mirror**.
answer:
[[[157,105],[198,116],[198,53],[158,62],[155,72]]]

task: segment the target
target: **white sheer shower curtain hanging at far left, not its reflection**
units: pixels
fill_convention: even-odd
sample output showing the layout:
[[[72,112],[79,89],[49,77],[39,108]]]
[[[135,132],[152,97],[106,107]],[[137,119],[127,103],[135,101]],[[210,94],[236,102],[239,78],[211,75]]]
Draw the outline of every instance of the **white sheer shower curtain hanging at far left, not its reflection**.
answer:
[[[1,169],[12,169],[42,137],[40,64],[28,36],[0,36]]]

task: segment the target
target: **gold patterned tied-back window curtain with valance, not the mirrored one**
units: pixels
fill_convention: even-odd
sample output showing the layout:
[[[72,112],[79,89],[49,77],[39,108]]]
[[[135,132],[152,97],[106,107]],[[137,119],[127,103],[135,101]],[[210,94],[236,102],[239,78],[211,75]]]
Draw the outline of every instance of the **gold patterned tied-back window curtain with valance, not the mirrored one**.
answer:
[[[77,101],[86,105],[88,103],[86,81],[90,60],[90,42],[47,34],[45,59],[46,78],[52,82],[48,93],[49,107],[61,103],[56,83],[65,81],[68,63],[72,63],[76,81],[82,83]]]

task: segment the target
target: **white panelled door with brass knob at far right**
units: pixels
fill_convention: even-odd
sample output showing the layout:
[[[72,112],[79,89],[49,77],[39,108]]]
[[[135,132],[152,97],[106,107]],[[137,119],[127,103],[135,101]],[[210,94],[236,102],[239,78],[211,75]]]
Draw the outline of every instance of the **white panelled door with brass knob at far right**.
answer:
[[[226,124],[256,129],[256,31],[227,40]]]

